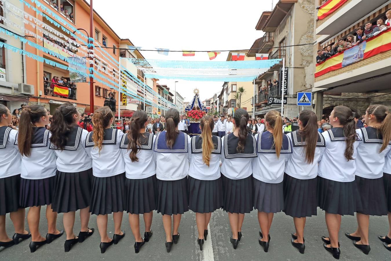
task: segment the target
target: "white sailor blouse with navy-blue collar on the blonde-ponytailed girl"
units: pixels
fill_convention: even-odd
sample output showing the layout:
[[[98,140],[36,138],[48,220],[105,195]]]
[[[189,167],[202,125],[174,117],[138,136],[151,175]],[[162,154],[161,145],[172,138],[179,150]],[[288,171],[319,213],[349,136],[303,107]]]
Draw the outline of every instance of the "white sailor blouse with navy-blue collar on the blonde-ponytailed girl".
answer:
[[[287,135],[282,134],[280,157],[277,158],[273,133],[257,133],[256,154],[253,159],[253,177],[266,183],[280,183],[284,178],[285,161],[291,157],[292,144]]]

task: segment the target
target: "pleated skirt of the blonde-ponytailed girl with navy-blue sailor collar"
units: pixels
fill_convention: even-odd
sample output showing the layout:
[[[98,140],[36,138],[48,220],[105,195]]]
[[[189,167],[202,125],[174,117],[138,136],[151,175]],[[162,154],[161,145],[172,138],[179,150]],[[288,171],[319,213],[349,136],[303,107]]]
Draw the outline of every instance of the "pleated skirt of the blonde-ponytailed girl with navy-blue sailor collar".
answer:
[[[266,183],[254,178],[254,208],[266,213],[281,212],[284,208],[283,182]]]

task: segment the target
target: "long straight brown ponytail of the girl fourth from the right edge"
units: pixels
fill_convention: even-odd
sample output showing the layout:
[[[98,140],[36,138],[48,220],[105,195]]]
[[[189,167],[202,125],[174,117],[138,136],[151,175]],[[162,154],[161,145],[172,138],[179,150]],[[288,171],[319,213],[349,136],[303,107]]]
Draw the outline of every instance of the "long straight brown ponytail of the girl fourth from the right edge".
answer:
[[[304,154],[307,164],[314,161],[316,142],[318,137],[316,114],[312,110],[302,110],[299,121],[303,129],[299,130],[299,135],[305,139]],[[303,140],[303,139],[302,139]]]

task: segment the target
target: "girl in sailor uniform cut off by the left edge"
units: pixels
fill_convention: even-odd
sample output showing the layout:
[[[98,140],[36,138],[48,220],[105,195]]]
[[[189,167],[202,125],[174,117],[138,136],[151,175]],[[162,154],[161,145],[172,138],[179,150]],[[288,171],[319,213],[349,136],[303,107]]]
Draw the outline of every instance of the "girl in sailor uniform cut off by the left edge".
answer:
[[[9,127],[11,113],[8,108],[0,104],[0,247],[11,247],[18,244],[20,239],[30,238],[31,234],[25,230],[25,209],[19,205],[20,191],[20,153],[14,145],[18,131]],[[13,239],[5,232],[5,214],[14,224]]]

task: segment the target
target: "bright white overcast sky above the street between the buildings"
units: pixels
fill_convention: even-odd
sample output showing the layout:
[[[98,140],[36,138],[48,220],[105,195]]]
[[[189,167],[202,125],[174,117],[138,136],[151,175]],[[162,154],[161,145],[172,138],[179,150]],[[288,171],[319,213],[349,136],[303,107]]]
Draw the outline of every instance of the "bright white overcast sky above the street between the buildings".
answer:
[[[272,0],[94,0],[93,8],[118,36],[129,38],[143,49],[237,50],[249,49],[263,36],[255,25],[263,11],[271,10]],[[206,52],[196,52],[193,57],[184,57],[181,52],[168,56],[141,52],[146,59],[209,61]],[[222,52],[212,61],[226,61],[227,56],[228,52]],[[174,91],[175,81],[160,79],[158,83]],[[200,90],[204,100],[220,92],[223,84],[177,81],[176,89],[185,101],[193,98],[194,88]]]

